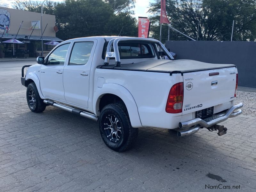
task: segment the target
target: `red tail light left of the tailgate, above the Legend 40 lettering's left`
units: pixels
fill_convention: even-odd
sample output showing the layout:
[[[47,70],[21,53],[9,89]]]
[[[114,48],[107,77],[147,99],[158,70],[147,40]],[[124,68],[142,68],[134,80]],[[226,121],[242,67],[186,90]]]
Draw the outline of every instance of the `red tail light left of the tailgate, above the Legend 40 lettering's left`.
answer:
[[[180,82],[172,86],[168,95],[165,111],[167,113],[181,113],[182,103],[183,103],[183,82]]]

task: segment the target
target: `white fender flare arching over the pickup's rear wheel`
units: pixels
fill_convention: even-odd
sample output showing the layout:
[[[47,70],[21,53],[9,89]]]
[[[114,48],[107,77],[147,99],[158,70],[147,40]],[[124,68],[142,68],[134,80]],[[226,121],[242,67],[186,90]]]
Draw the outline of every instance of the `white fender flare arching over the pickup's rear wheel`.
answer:
[[[102,88],[96,87],[96,90],[94,91],[94,94],[93,94],[93,100],[92,100],[94,114],[97,114],[97,116],[100,115],[100,112],[99,112],[100,98],[105,94],[113,94],[120,97],[124,101],[124,104],[127,108],[132,127],[134,128],[142,127],[140,122],[138,107],[134,98],[132,97],[132,94],[125,87],[119,84],[106,83],[106,84],[103,84]]]

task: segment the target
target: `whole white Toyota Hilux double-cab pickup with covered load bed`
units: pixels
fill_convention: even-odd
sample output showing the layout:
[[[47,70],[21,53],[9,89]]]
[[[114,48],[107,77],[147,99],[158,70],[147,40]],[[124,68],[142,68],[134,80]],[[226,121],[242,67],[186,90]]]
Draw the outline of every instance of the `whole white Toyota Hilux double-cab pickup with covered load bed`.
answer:
[[[237,77],[235,65],[174,60],[155,39],[97,36],[60,43],[23,66],[21,83],[32,112],[52,105],[98,121],[105,144],[122,152],[140,127],[225,134],[218,124],[242,113]]]

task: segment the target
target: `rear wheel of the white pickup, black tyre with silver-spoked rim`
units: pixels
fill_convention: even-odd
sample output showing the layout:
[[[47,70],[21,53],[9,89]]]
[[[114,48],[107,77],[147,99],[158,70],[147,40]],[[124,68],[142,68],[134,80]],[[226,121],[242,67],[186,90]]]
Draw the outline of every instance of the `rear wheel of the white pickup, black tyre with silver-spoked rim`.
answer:
[[[100,113],[100,135],[108,148],[124,152],[133,147],[138,128],[133,128],[122,103],[108,104]]]

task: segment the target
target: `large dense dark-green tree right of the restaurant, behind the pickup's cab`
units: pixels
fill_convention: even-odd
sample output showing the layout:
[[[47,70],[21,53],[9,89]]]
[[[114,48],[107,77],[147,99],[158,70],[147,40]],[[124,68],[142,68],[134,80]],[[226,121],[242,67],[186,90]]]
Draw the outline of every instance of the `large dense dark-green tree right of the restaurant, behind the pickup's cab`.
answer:
[[[58,36],[69,39],[103,35],[106,19],[112,14],[110,6],[101,0],[66,0],[55,10]]]

